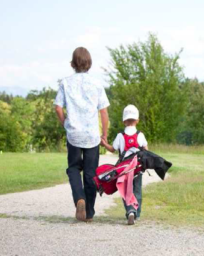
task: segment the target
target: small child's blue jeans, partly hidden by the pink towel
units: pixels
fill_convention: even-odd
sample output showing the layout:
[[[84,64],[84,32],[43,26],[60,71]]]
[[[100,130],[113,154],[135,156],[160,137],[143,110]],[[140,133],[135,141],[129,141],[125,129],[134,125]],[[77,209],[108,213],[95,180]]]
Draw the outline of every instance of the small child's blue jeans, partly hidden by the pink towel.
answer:
[[[134,212],[134,217],[140,216],[141,213],[141,207],[142,207],[142,175],[138,175],[133,180],[133,193],[136,197],[136,200],[138,201],[139,207],[137,210],[133,206],[126,206],[126,202],[124,201],[124,207],[126,209],[126,218],[128,219],[129,213]]]

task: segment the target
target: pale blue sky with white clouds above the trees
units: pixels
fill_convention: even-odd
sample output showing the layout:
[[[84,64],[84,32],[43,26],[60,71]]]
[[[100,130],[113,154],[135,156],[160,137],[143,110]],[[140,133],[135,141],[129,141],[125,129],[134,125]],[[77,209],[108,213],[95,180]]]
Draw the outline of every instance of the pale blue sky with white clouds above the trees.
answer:
[[[90,74],[108,86],[107,47],[157,35],[164,51],[178,53],[185,76],[204,81],[204,1],[201,0],[0,0],[0,92],[26,96],[57,89],[73,74],[75,48],[88,48]]]

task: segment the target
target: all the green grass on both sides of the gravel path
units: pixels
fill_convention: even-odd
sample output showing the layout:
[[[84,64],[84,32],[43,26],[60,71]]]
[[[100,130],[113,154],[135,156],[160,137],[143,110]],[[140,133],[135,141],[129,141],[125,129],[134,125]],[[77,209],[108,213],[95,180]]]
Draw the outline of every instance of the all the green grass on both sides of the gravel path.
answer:
[[[203,147],[154,149],[173,163],[170,177],[143,189],[141,221],[173,225],[204,226],[204,155]],[[196,150],[196,152],[195,152]],[[169,153],[168,153],[169,152]],[[0,155],[0,194],[50,187],[68,182],[66,154]],[[124,207],[107,211],[110,219],[124,219]]]

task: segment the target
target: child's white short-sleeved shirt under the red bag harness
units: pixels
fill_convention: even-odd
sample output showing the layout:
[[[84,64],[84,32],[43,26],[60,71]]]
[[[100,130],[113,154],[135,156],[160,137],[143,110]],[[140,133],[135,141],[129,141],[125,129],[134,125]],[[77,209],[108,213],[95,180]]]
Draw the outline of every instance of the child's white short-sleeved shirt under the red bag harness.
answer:
[[[131,136],[134,135],[136,133],[136,127],[135,126],[126,126],[124,133],[126,133],[127,135]],[[139,144],[139,146],[147,146],[147,140],[144,136],[144,133],[140,132],[137,136],[137,142]],[[122,133],[119,133],[115,140],[113,141],[113,148],[115,150],[120,150],[121,153],[124,151],[125,149],[125,140],[124,140],[124,136]],[[136,151],[138,151],[139,149],[136,148],[131,148],[128,151],[126,151],[125,157],[129,156],[132,153],[135,153]]]

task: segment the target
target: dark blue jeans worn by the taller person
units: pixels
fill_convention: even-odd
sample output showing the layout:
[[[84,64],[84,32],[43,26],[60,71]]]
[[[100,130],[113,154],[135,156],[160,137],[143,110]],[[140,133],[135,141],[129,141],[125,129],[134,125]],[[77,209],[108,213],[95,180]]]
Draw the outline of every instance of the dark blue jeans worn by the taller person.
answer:
[[[86,218],[91,219],[95,213],[96,186],[93,177],[99,160],[99,146],[91,149],[78,148],[71,144],[68,146],[68,169],[70,186],[73,192],[75,206],[78,200],[85,200]],[[83,171],[83,182],[80,172]]]

